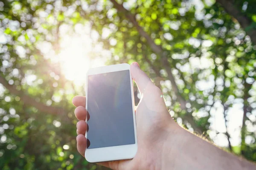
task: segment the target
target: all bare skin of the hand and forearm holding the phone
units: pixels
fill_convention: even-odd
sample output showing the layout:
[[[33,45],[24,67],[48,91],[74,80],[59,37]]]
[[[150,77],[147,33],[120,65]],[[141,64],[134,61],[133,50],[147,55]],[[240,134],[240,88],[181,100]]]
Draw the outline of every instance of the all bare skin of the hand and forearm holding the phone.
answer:
[[[131,64],[131,76],[136,82],[141,99],[136,109],[138,151],[130,160],[101,162],[114,170],[246,170],[256,166],[227,153],[189,133],[170,116],[161,90],[140,69]],[[84,156],[87,139],[84,134],[87,116],[84,96],[73,98],[76,106],[77,150]]]

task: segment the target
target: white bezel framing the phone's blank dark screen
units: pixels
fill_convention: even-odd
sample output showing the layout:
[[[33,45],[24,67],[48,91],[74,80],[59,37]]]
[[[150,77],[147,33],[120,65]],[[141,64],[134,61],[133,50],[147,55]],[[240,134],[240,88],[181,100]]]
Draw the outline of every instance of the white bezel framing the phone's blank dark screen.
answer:
[[[86,99],[87,99],[87,79],[89,75],[94,74],[102,74],[102,73],[110,73],[114,71],[124,71],[129,70],[129,64],[117,64],[117,65],[108,65],[98,68],[90,68],[87,71],[86,75]],[[135,144],[127,144],[120,146],[112,146],[112,147],[100,147],[85,150],[84,156],[88,162],[101,162],[101,161],[113,161],[113,160],[121,160],[121,159],[132,159],[137,153],[137,133],[136,133],[136,120],[135,120],[135,112],[134,112],[134,91],[133,91],[133,80],[131,78],[130,72],[130,83],[131,83],[131,99],[132,99],[132,110],[133,110],[133,121],[134,121],[134,136],[135,136]],[[87,109],[87,102],[86,102]],[[85,120],[87,122],[87,118]],[[87,138],[87,132],[85,133],[85,137]],[[90,140],[90,139],[89,139]]]

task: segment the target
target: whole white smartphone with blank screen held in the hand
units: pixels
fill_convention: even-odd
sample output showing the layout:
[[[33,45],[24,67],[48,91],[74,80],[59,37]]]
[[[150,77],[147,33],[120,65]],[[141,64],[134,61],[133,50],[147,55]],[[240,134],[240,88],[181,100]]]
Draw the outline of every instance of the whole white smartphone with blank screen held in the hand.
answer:
[[[132,159],[137,153],[137,133],[130,65],[91,68],[86,89],[86,160]]]

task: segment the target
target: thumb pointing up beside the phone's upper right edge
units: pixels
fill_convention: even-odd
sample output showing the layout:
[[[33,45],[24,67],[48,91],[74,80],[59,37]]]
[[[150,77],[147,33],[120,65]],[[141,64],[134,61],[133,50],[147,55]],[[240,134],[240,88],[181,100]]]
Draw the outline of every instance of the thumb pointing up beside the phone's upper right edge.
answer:
[[[137,62],[131,63],[131,77],[136,82],[140,93],[143,93],[148,85],[152,85],[151,79],[140,69]]]

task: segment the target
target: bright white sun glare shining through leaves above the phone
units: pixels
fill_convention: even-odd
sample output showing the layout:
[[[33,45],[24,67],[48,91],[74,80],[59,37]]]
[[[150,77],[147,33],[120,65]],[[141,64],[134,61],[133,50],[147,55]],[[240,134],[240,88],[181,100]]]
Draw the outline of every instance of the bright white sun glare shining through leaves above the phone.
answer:
[[[99,35],[92,37],[88,26],[80,27],[85,27],[85,29],[76,28],[76,32],[71,35],[65,34],[66,31],[62,32],[61,50],[56,56],[61,64],[61,72],[66,79],[73,81],[76,85],[82,85],[85,82],[89,68],[105,65],[109,57],[109,53],[105,53],[106,50],[102,48],[102,45],[96,43]],[[102,57],[102,54],[106,56]]]

